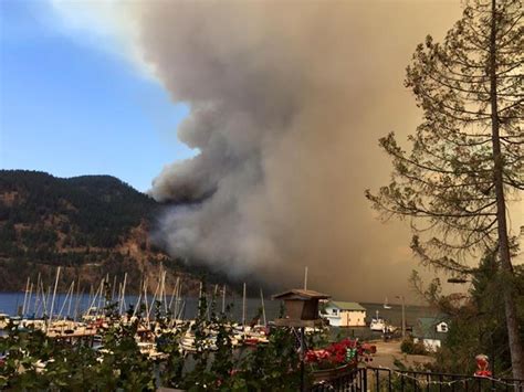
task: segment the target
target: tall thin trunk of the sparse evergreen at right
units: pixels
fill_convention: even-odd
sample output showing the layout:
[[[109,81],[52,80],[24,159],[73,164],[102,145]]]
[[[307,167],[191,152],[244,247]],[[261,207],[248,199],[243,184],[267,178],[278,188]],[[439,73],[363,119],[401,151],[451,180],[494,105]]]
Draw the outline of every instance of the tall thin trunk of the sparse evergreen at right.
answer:
[[[491,1],[491,39],[490,39],[490,100],[491,100],[491,130],[493,146],[493,181],[496,197],[496,220],[499,226],[499,252],[501,257],[502,277],[504,282],[504,310],[506,316],[507,338],[510,342],[511,361],[514,379],[524,379],[524,358],[516,319],[516,307],[514,301],[513,267],[510,255],[510,242],[507,237],[506,206],[504,199],[503,165],[501,155],[500,119],[496,92],[496,15],[495,0]]]

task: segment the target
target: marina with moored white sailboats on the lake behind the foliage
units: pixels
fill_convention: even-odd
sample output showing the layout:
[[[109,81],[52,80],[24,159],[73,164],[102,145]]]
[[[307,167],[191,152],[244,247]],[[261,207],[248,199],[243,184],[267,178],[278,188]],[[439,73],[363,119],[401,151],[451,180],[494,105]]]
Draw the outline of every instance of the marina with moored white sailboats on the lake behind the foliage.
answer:
[[[254,333],[254,330],[251,331],[251,327],[256,326],[259,333],[255,335],[260,337],[262,327],[271,325],[281,311],[281,301],[264,298],[263,295],[259,298],[243,298],[243,296],[227,289],[224,294],[223,287],[219,292],[217,286],[216,290],[217,294],[211,290],[206,297],[208,304],[207,317],[209,318],[211,312],[220,314],[223,310],[240,332],[248,330],[250,333]],[[98,295],[96,293],[87,295],[73,294],[72,290],[69,290],[67,293],[56,293],[54,300],[52,300],[52,295],[45,298],[45,295],[39,297],[29,292],[1,293],[0,336],[4,333],[2,329],[6,328],[9,319],[14,319],[23,328],[45,329],[51,337],[92,337],[97,335],[98,327],[107,327],[104,308],[108,304],[113,304],[117,315],[125,322],[136,318],[137,304],[140,304],[139,306],[144,310],[144,330],[150,329],[151,322],[155,321],[154,308],[156,301],[160,304],[160,314],[169,312],[174,317],[176,320],[174,327],[190,324],[198,315],[199,298],[196,296],[172,296],[165,293],[155,295],[155,293],[146,292],[140,295],[113,295],[114,297],[104,298],[99,293]],[[161,300],[157,297],[161,297]],[[212,298],[214,298],[214,301]],[[340,327],[329,321],[332,324],[329,326],[332,337],[347,336],[376,340],[381,339],[384,332],[392,332],[401,328],[401,305],[390,304],[388,308],[384,308],[380,303],[360,303],[360,306],[367,315],[363,324],[360,326]],[[49,317],[51,311],[53,311],[52,320]],[[127,315],[128,311],[130,311],[130,317]],[[407,306],[406,325],[408,327],[413,326],[417,319],[430,316],[432,312],[430,308],[425,306]],[[328,315],[323,315],[321,311],[321,316],[326,317]],[[327,317],[327,320],[329,320],[329,317]],[[191,337],[188,336],[186,341],[189,342],[190,339]]]

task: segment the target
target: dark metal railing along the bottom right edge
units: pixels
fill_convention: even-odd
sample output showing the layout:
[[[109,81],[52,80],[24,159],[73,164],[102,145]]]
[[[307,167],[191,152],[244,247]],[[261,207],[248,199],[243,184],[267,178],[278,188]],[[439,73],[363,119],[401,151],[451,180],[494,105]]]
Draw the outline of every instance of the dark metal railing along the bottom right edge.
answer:
[[[467,374],[358,368],[349,373],[315,383],[311,392],[524,392],[524,380]]]

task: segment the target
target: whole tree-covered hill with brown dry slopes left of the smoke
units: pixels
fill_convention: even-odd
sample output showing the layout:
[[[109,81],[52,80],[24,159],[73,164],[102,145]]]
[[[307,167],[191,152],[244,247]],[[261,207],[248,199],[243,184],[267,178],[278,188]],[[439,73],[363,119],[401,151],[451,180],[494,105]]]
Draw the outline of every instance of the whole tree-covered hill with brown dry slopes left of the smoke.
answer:
[[[63,267],[61,287],[80,278],[88,289],[102,277],[137,290],[143,277],[156,285],[160,264],[168,279],[181,276],[189,290],[196,275],[151,244],[149,231],[163,205],[111,176],[56,178],[45,172],[0,170],[0,292],[20,290],[38,274],[51,284]],[[154,288],[154,287],[153,287]]]

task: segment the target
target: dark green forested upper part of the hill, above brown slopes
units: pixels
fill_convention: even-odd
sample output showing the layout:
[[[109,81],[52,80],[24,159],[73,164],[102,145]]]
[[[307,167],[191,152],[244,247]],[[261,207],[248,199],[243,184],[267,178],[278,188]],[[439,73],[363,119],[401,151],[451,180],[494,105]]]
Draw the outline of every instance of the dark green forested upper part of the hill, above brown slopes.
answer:
[[[12,202],[2,203],[3,221],[29,225],[65,222],[66,232],[74,227],[77,242],[95,247],[114,246],[157,208],[153,199],[109,176],[61,179],[36,171],[1,170],[0,192],[13,195]],[[36,243],[31,234],[39,233],[28,233],[28,242]]]

